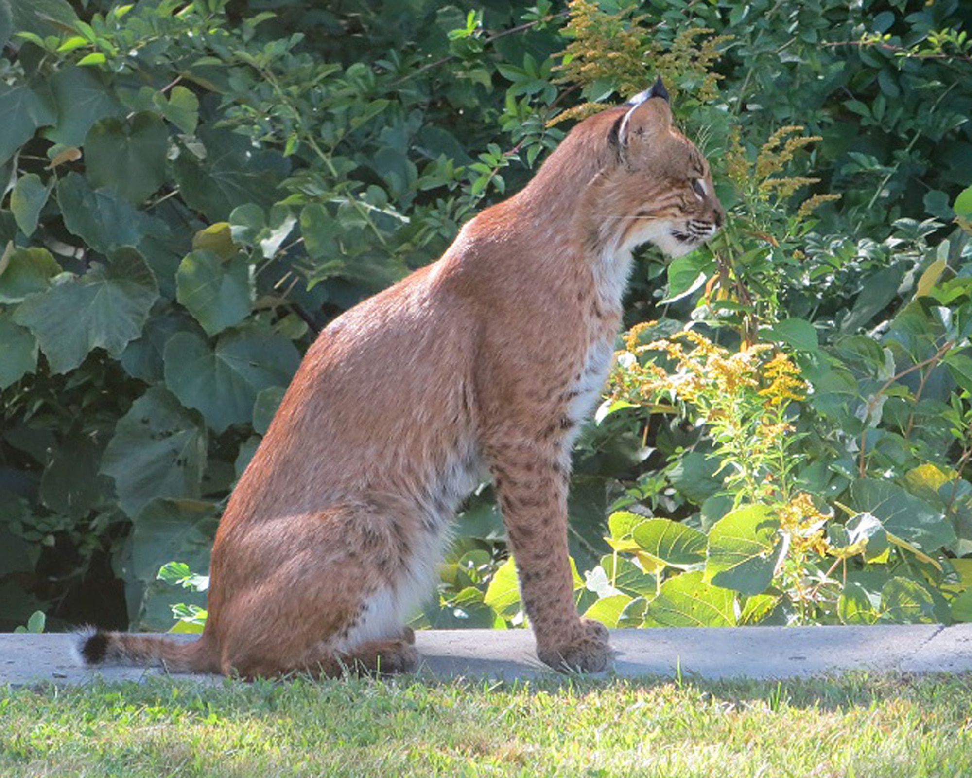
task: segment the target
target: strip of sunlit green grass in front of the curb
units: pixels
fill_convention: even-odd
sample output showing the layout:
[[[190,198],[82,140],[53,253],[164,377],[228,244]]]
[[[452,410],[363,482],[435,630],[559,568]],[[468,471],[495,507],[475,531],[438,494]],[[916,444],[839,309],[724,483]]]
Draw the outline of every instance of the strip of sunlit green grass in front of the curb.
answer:
[[[0,690],[0,775],[969,776],[972,677]]]

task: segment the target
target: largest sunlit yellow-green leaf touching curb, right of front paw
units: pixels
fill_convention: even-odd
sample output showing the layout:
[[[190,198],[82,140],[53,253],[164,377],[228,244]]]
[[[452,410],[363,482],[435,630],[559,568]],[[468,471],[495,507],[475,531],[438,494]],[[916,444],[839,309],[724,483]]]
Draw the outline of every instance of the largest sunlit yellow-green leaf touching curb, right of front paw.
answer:
[[[682,573],[662,583],[648,603],[645,626],[735,626],[736,594],[706,583],[703,573]]]

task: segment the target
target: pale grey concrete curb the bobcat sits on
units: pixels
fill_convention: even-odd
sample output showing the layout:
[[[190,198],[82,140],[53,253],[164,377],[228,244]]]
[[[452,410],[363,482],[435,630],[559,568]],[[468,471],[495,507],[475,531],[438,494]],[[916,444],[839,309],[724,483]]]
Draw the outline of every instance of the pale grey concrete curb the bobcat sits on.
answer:
[[[194,636],[173,636],[192,640]],[[158,669],[88,670],[72,656],[70,634],[0,635],[0,686],[140,681]],[[726,627],[614,629],[614,667],[605,677],[785,679],[849,670],[914,673],[972,671],[972,624],[941,626]],[[416,633],[420,672],[437,678],[556,678],[534,653],[526,630]],[[209,683],[217,676],[178,676]]]

